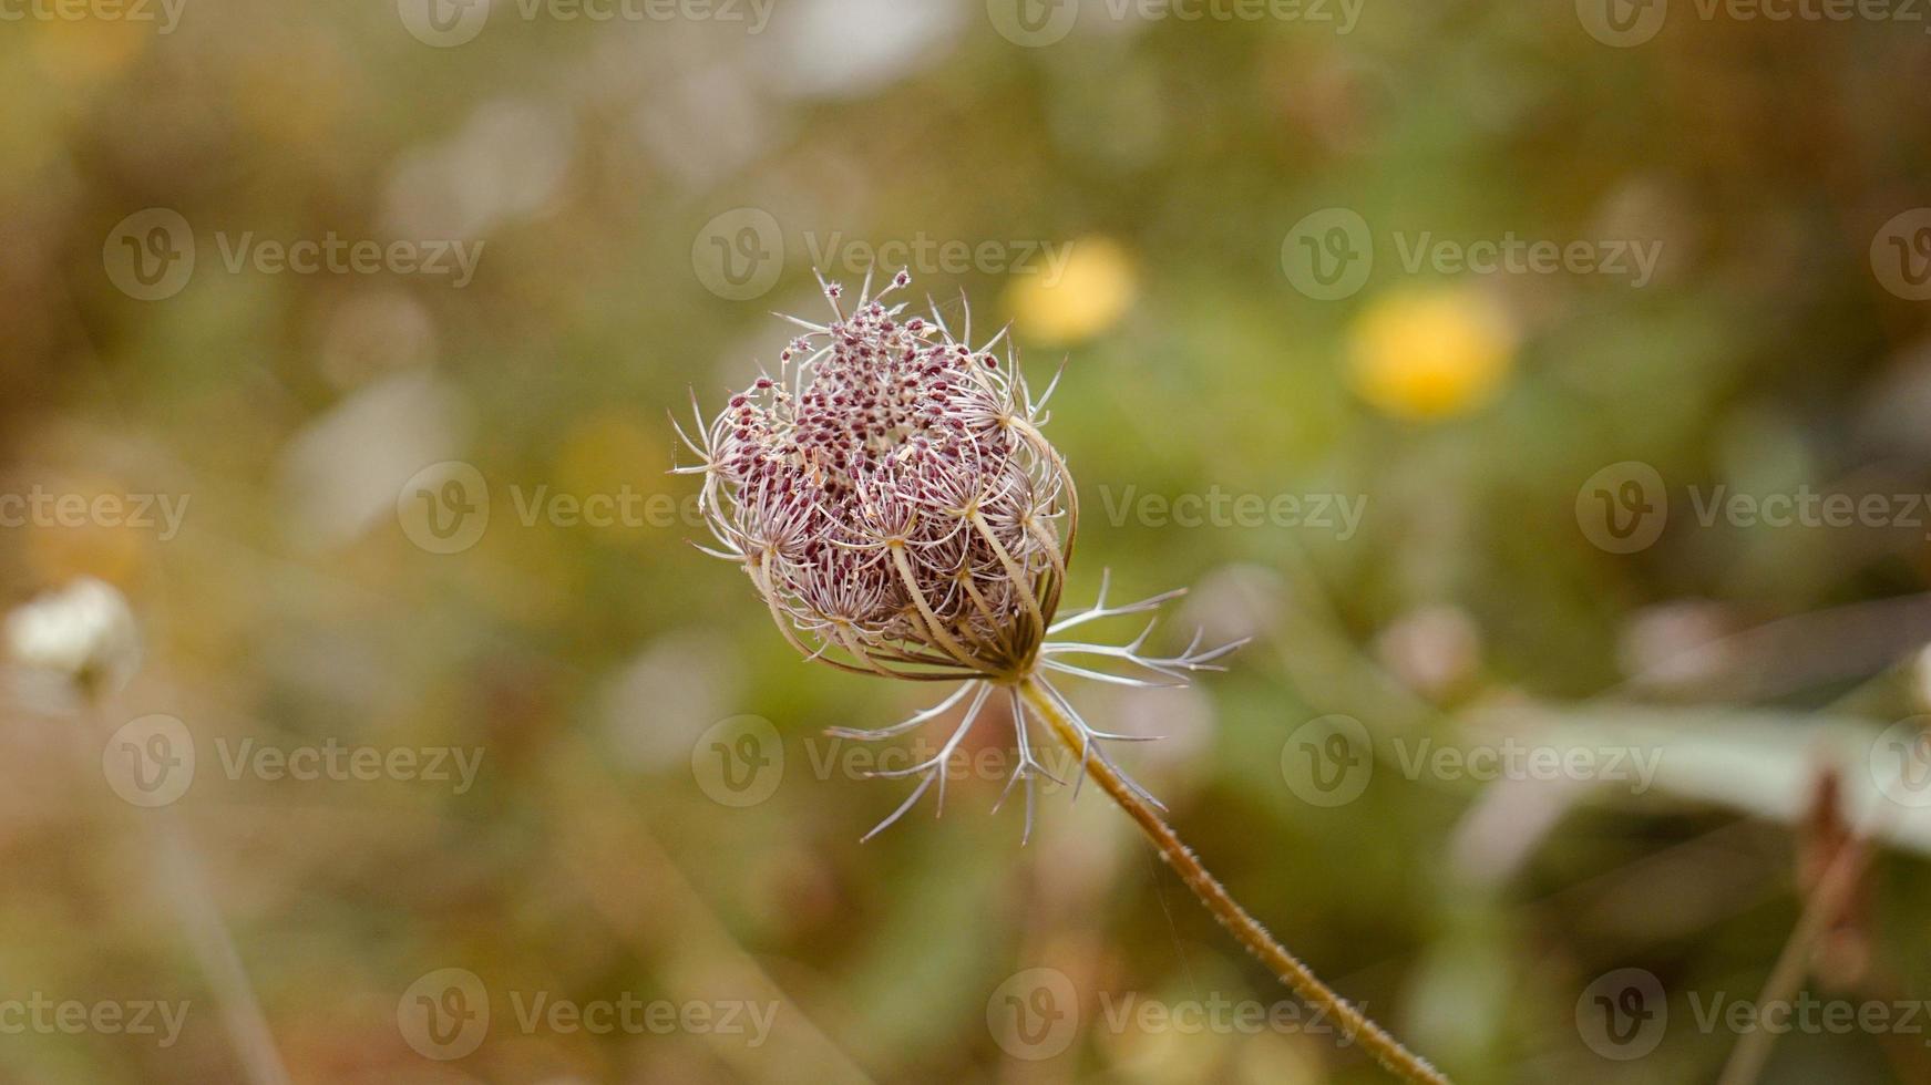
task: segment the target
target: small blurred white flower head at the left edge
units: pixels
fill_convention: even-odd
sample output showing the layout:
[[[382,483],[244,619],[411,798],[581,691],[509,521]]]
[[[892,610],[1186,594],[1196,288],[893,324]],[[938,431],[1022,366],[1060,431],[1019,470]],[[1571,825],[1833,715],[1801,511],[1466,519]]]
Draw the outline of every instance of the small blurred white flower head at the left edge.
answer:
[[[6,654],[19,666],[73,685],[120,689],[141,664],[141,633],[114,585],[79,577],[6,618]]]

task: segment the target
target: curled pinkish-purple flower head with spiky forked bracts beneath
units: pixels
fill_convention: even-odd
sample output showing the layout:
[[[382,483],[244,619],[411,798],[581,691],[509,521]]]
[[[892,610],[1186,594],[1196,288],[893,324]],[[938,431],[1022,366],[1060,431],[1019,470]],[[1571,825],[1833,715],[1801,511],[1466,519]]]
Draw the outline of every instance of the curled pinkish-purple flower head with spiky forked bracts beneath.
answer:
[[[1054,620],[1079,529],[1072,475],[1041,432],[1058,378],[1035,400],[1004,330],[973,348],[969,309],[960,336],[937,307],[908,317],[892,295],[910,282],[898,272],[873,295],[867,276],[857,297],[844,299],[838,284],[821,280],[832,319],[788,317],[803,334],[778,355],[776,376],[765,371],[714,419],[693,400],[697,438],[678,432],[699,463],[678,471],[703,475],[699,504],[716,539],[703,550],[743,568],[807,658],[966,683],[904,724],[838,732],[892,737],[969,699],[938,755],[884,772],[921,782],[873,832],[935,780],[944,805],[952,753],[996,689],[1010,697],[1020,753],[1006,788],[1025,782],[1031,828],[1033,778],[1049,774],[1031,751],[1021,682],[1039,683],[1079,720],[1045,672],[1172,685],[1186,672],[1217,670],[1213,660],[1238,645],[1199,651],[1195,637],[1178,656],[1145,656],[1151,626],[1124,647],[1049,641],[1095,618],[1151,612],[1178,593],[1108,608],[1103,577],[1091,610]],[[1155,678],[1076,666],[1066,654],[1106,656]],[[1077,728],[1081,768],[1087,757],[1106,759],[1103,739],[1128,737]]]

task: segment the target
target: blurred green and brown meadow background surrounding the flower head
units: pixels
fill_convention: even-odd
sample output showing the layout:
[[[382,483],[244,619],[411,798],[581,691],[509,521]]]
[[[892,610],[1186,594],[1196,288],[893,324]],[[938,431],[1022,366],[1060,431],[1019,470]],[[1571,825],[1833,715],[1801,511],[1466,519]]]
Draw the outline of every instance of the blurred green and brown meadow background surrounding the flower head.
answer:
[[[1792,998],[1925,996],[1931,795],[1875,741],[1931,710],[1910,8],[8,12],[0,492],[182,517],[0,529],[8,606],[98,577],[145,643],[93,703],[8,699],[0,1079],[1381,1079],[1215,1010],[1288,994],[1097,790],[1047,788],[1021,848],[1000,728],[942,821],[857,844],[908,784],[825,728],[935,697],[799,662],[666,471],[668,413],[776,365],[813,264],[875,255],[1064,363],[1070,604],[1110,568],[1193,587],[1157,639],[1255,637],[1195,689],[1077,685],[1087,718],[1166,736],[1118,757],[1178,832],[1456,1079],[1715,1079],[1761,1029],[1707,1010],[1782,956]],[[1510,239],[1578,259],[1489,266]],[[1309,515],[1141,504],[1213,492]],[[124,803],[104,736],[156,712],[191,786]],[[1352,755],[1307,761],[1330,734]],[[274,778],[245,741],[481,763]],[[1417,761],[1504,741],[1599,770]],[[473,1012],[471,979],[456,1054],[413,998]],[[774,1017],[599,1035],[527,1025],[539,992]],[[35,994],[189,1010],[170,1044],[12,1027]],[[1759,1079],[1931,1081],[1931,1025],[1890,1019],[1780,1035]]]

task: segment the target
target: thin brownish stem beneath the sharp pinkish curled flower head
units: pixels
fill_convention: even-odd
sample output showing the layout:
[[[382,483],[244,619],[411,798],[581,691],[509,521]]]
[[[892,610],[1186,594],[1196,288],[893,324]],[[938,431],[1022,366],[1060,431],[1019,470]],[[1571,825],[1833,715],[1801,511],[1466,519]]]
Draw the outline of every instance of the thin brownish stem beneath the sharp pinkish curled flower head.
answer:
[[[1039,687],[1033,678],[1020,680],[1020,695],[1031,705],[1041,718],[1052,728],[1052,734],[1079,755],[1083,741],[1079,730],[1072,720],[1052,703],[1052,699]],[[1350,1006],[1340,994],[1321,983],[1315,973],[1303,965],[1294,954],[1290,954],[1280,942],[1267,932],[1247,909],[1228,896],[1226,888],[1193,857],[1193,851],[1182,844],[1180,836],[1161,819],[1145,799],[1133,793],[1132,786],[1120,778],[1120,774],[1101,759],[1089,759],[1085,772],[1093,776],[1093,782],[1101,786],[1112,801],[1120,803],[1120,809],[1132,817],[1141,832],[1153,842],[1166,859],[1166,865],[1180,875],[1180,880],[1193,890],[1193,896],[1201,898],[1207,911],[1226,927],[1236,940],[1261,963],[1265,963],[1282,983],[1294,988],[1296,994],[1305,998],[1309,1004],[1327,1012],[1340,1023],[1344,1035],[1352,1035],[1357,1043],[1375,1056],[1375,1062],[1385,1066],[1390,1073],[1406,1081],[1423,1081],[1433,1085],[1448,1085],[1448,1077],[1439,1070],[1423,1062],[1417,1054],[1410,1052],[1390,1037],[1381,1025],[1369,1021],[1365,1014]]]

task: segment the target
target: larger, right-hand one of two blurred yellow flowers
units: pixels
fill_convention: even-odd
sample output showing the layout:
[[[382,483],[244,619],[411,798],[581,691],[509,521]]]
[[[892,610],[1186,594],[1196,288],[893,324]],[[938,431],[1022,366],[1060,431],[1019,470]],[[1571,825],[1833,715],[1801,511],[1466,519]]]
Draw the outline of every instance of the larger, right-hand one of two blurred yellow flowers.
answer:
[[[1377,297],[1356,317],[1348,338],[1356,390],[1404,419],[1442,419],[1481,407],[1516,359],[1508,313],[1466,286]]]

